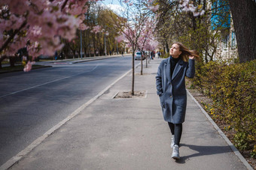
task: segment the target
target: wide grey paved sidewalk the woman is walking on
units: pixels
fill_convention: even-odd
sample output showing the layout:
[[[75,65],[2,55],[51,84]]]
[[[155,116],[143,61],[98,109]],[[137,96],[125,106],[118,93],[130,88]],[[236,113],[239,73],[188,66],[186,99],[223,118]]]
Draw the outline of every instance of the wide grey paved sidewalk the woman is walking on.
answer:
[[[143,76],[136,68],[135,90],[147,91],[145,98],[113,99],[131,90],[126,74],[11,169],[247,169],[190,95],[181,159],[171,159],[171,134],[155,88],[160,61],[151,60]]]

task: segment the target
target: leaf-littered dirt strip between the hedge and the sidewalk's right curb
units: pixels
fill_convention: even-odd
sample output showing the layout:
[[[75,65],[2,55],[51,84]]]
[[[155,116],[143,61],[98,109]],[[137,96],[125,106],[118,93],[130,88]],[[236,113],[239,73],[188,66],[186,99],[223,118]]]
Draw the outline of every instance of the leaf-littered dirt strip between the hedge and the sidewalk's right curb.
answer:
[[[218,116],[213,114],[211,112],[211,106],[212,106],[212,99],[209,97],[206,97],[204,94],[202,94],[199,90],[191,87],[191,82],[189,79],[186,79],[186,86],[187,90],[192,94],[192,96],[197,100],[198,103],[203,107],[203,109],[206,110],[208,115],[212,118],[213,121],[215,121],[215,124],[218,125],[218,127],[222,130],[222,132],[227,136],[228,139],[230,139],[230,142],[233,143],[233,136],[235,134],[235,131],[232,129],[229,129],[230,125],[226,124],[225,121],[218,119]],[[250,157],[251,151],[239,151],[242,156],[247,160],[247,162],[251,165],[253,169],[256,170],[256,160]]]

